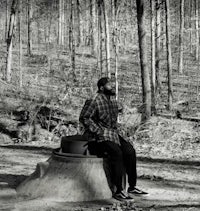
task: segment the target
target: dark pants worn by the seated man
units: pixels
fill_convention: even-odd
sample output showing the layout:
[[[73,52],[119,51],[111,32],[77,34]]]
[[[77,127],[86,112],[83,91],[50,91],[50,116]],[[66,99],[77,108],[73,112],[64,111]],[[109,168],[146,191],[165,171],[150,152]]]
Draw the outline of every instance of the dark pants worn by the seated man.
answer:
[[[128,183],[130,187],[135,187],[137,181],[136,170],[136,153],[133,146],[120,137],[121,146],[111,141],[93,142],[89,144],[89,151],[93,154],[97,154],[100,157],[107,156],[110,164],[110,170],[112,182],[117,188],[117,191],[121,191],[122,177],[124,170],[128,175]]]

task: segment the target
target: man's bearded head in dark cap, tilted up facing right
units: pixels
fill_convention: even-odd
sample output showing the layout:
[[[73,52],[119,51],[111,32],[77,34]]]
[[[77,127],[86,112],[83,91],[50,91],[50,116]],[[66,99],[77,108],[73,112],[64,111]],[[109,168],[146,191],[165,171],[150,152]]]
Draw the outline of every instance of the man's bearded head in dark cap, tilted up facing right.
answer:
[[[104,93],[105,95],[113,96],[115,95],[115,91],[112,88],[112,84],[110,79],[107,77],[103,77],[97,82],[98,91]]]

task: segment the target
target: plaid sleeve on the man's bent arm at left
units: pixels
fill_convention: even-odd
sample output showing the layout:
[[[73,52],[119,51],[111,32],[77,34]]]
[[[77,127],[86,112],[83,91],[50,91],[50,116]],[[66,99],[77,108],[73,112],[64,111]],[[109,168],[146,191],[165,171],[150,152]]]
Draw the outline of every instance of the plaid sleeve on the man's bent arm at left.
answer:
[[[81,111],[79,121],[88,129],[90,132],[99,135],[102,133],[102,129],[94,122],[92,117],[96,114],[97,105],[95,100],[86,100],[85,105]]]

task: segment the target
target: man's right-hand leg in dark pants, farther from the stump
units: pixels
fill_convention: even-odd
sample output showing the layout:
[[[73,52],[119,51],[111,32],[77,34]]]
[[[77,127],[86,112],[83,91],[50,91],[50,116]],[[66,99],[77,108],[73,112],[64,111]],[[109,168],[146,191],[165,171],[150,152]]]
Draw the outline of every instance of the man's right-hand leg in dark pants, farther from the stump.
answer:
[[[120,136],[121,150],[124,158],[124,165],[128,175],[128,183],[134,188],[137,183],[136,152],[133,146]]]

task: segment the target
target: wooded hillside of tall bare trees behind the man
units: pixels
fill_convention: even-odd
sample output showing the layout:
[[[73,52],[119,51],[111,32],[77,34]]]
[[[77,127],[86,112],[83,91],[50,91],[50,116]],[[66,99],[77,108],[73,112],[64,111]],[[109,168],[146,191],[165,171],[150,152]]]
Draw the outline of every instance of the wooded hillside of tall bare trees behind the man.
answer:
[[[0,5],[1,110],[7,114],[30,112],[33,124],[45,106],[48,130],[63,116],[76,122],[98,78],[109,76],[126,120],[138,112],[147,119],[177,110],[199,115],[198,0]]]

